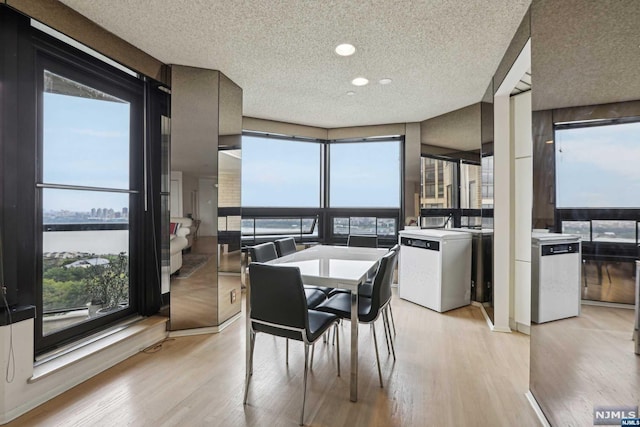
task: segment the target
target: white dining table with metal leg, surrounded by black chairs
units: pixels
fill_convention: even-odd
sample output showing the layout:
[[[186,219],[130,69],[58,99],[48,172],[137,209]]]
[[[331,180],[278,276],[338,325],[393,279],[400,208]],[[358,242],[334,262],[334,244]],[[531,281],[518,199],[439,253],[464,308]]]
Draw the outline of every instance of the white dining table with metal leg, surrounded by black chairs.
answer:
[[[375,273],[387,249],[316,245],[267,264],[296,266],[305,285],[327,286],[351,293],[350,400],[358,400],[358,287]],[[249,298],[247,298],[247,304]],[[247,312],[249,307],[247,306]]]

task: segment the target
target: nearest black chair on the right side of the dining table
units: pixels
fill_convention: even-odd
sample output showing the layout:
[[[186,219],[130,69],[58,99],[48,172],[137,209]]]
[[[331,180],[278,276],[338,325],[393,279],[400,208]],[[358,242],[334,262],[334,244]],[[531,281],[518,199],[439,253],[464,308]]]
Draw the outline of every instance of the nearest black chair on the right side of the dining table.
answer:
[[[385,320],[385,332],[388,332],[389,339],[393,340],[391,332],[387,331],[388,320],[386,319],[385,307],[389,304],[389,301],[391,301],[391,283],[393,282],[393,272],[395,270],[397,260],[398,253],[396,251],[389,251],[386,253],[380,259],[380,266],[378,267],[376,277],[373,281],[373,292],[371,298],[358,296],[358,321],[360,323],[370,324],[373,332],[373,344],[376,350],[376,361],[378,362],[380,387],[383,387],[383,383],[375,321],[380,317],[380,315],[382,315],[383,320]],[[316,307],[316,310],[333,313],[342,319],[351,320],[351,295],[345,293],[335,294],[327,301]],[[337,331],[335,333],[337,333]]]

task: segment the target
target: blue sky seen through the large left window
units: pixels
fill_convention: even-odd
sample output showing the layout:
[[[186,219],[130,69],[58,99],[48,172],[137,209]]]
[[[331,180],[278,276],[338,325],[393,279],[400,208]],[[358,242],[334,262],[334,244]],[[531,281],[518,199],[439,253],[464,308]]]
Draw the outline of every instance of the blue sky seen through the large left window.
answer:
[[[129,189],[128,103],[44,94],[43,182]],[[129,204],[127,194],[45,190],[44,210],[90,211]]]

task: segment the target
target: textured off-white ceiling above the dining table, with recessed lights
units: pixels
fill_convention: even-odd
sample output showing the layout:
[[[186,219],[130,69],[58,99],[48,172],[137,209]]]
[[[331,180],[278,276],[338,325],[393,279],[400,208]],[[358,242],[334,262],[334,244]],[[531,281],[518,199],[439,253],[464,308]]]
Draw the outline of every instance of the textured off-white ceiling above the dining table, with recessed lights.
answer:
[[[335,128],[479,102],[530,0],[62,3],[167,64],[222,71],[245,116]],[[340,43],[356,53],[339,57]]]

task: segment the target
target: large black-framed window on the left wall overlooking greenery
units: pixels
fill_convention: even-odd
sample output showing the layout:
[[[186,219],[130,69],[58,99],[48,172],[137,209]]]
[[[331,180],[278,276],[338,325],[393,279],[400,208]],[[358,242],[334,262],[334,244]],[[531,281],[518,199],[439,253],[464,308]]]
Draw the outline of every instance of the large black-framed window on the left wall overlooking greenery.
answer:
[[[8,8],[0,21],[0,272],[47,357],[160,307],[167,94]]]

